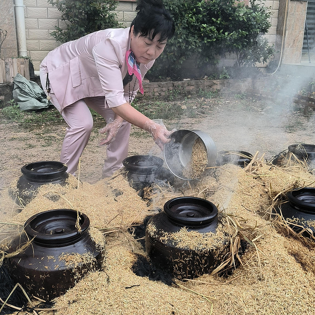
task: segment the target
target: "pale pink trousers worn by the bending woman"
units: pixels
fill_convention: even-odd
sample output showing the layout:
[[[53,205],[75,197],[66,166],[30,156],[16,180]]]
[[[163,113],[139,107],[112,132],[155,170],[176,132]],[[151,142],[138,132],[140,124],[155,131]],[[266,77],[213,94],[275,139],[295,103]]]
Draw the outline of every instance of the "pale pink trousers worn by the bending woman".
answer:
[[[47,94],[45,88],[46,76],[47,69],[45,69],[45,67],[40,67],[40,82]],[[50,101],[60,112],[61,106],[51,85],[50,89]],[[80,99],[63,109],[62,116],[68,127],[66,128],[63,139],[60,161],[68,165],[67,172],[73,175],[77,170],[79,158],[89,141],[93,127],[93,118],[89,107],[95,110],[96,113],[100,114],[106,122],[110,118],[114,119],[115,115],[110,108],[105,108],[104,96]],[[115,140],[107,146],[107,157],[105,159],[102,172],[103,178],[111,176],[117,169],[123,167],[122,162],[128,154],[130,126],[130,123],[124,121],[115,137]]]

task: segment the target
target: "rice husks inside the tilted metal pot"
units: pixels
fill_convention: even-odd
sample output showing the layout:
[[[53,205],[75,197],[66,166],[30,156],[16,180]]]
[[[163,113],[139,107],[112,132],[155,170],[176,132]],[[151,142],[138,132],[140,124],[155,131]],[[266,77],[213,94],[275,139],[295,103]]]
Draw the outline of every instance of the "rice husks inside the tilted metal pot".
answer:
[[[183,169],[186,178],[197,178],[206,169],[208,164],[207,148],[200,138],[197,138],[192,146],[191,156],[188,164]]]

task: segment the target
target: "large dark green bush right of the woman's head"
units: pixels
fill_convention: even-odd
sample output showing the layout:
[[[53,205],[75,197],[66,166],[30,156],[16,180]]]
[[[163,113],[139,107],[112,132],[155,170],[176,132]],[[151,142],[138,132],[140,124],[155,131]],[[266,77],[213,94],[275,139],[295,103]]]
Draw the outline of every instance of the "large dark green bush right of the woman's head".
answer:
[[[251,0],[164,0],[175,20],[175,35],[150,71],[156,77],[178,76],[185,60],[195,61],[203,74],[218,57],[235,54],[238,66],[267,62],[273,47],[261,34],[268,31],[271,13]]]

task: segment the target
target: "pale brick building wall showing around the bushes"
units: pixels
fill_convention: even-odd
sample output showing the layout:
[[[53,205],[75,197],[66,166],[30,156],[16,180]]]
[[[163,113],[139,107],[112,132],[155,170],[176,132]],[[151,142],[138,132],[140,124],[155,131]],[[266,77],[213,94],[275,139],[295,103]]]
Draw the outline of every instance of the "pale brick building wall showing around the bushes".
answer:
[[[279,0],[266,0],[262,3],[270,7],[272,12],[270,19],[272,26],[265,37],[267,37],[271,44],[274,44],[276,42]],[[28,55],[32,59],[34,69],[39,70],[39,64],[48,52],[60,45],[50,33],[54,31],[55,25],[64,28],[65,24],[61,20],[60,12],[48,4],[47,0],[24,0],[24,4],[26,6],[25,24]],[[135,0],[119,1],[116,9],[117,18],[124,27],[130,26],[131,21],[136,15],[135,8]],[[233,63],[233,58],[226,58],[221,61],[219,66],[231,66]],[[261,66],[264,65],[261,64]]]

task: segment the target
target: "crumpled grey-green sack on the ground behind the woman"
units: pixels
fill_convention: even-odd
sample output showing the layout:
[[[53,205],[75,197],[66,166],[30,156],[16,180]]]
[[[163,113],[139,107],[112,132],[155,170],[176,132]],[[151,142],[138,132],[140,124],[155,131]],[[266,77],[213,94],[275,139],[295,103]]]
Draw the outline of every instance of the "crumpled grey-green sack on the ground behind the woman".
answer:
[[[13,98],[23,111],[47,108],[50,102],[38,84],[18,73],[14,79]]]

